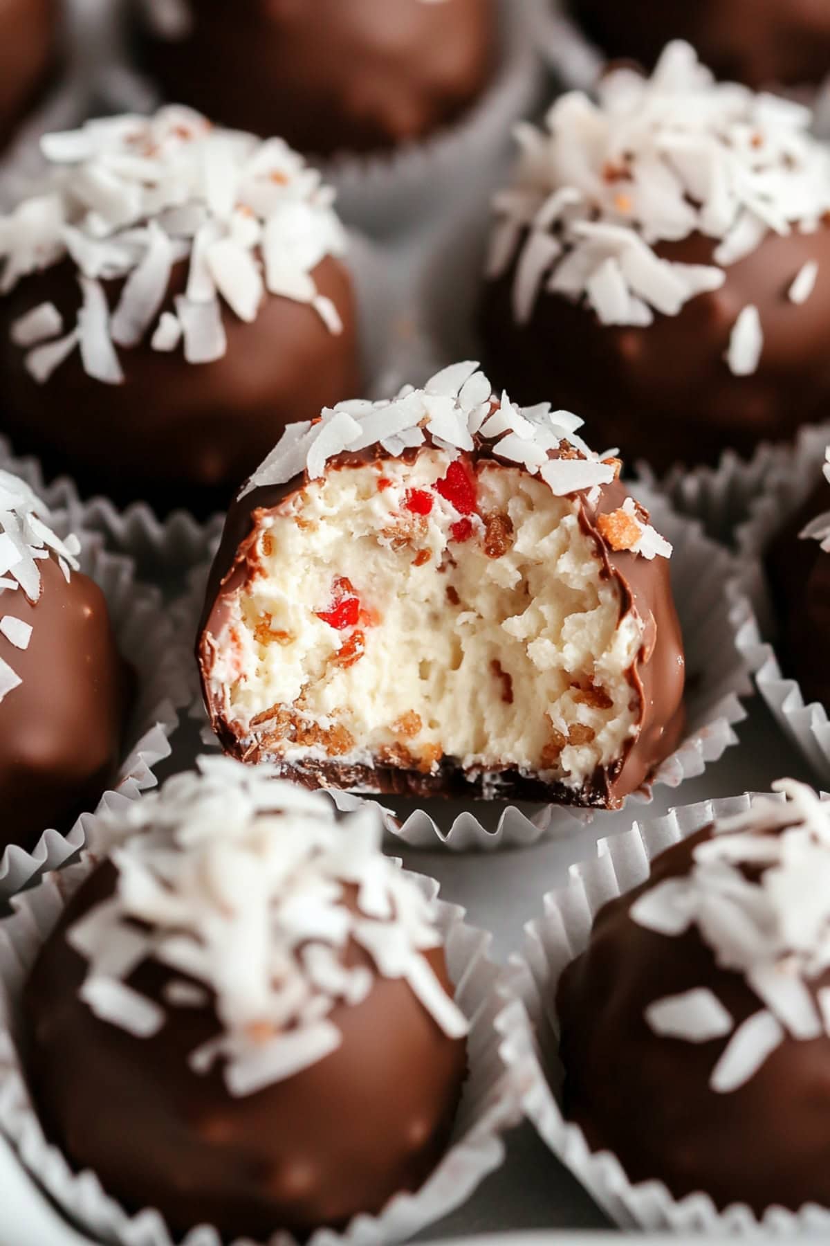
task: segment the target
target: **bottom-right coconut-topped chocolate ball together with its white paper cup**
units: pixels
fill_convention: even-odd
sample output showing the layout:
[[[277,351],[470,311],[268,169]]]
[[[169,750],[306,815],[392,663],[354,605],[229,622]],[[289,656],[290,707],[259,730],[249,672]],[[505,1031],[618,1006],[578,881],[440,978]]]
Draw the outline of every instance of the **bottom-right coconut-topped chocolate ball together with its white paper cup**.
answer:
[[[830,809],[775,787],[604,841],[528,927],[501,1055],[623,1227],[830,1224]]]

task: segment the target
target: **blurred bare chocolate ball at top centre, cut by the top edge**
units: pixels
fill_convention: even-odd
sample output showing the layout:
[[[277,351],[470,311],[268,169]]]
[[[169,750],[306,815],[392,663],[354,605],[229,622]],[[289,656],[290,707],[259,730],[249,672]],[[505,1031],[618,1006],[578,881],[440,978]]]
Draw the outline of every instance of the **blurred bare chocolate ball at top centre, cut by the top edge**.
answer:
[[[431,135],[484,88],[492,0],[189,0],[180,40],[146,34],[167,96],[299,151],[394,147]]]

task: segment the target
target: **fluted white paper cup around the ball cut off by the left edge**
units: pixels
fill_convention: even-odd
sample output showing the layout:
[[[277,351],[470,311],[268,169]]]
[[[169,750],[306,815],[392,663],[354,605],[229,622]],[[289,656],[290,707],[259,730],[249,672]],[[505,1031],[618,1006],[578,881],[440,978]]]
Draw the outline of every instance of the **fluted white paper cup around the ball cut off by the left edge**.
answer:
[[[170,754],[169,736],[187,704],[188,689],[178,670],[170,621],[158,589],[138,583],[131,558],[108,553],[100,535],[67,522],[65,512],[52,515],[52,526],[58,536],[77,532],[81,571],[102,589],[118,652],[136,674],[118,770],[97,805],[98,811],[113,809],[156,786],[153,770]],[[0,900],[20,891],[42,870],[58,868],[82,849],[91,816],[92,811],[81,814],[66,834],[45,829],[31,851],[9,845],[0,856]]]

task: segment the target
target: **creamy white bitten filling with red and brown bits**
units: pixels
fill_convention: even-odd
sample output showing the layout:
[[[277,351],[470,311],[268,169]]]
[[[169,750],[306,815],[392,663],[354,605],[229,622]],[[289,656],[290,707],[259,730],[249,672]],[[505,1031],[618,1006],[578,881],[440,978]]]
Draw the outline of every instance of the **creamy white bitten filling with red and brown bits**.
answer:
[[[450,462],[426,450],[330,470],[264,515],[214,695],[263,756],[424,773],[443,759],[580,789],[636,731],[642,623],[621,619],[572,498],[483,461],[463,466],[464,515],[442,485]]]

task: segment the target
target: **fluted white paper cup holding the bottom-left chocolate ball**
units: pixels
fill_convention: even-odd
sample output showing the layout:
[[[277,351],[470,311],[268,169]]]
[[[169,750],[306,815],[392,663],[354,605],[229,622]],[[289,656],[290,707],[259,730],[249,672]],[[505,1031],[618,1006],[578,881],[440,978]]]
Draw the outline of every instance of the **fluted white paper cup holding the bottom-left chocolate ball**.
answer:
[[[128,1215],[101,1187],[93,1172],[76,1174],[51,1145],[35,1114],[19,1053],[22,983],[37,951],[56,925],[65,903],[91,867],[88,856],[15,900],[15,915],[0,923],[0,1129],[15,1146],[30,1175],[61,1211],[96,1239],[118,1246],[172,1246],[157,1211]],[[431,898],[432,878],[411,875]],[[490,936],[464,922],[464,910],[439,902],[439,927],[445,939],[455,998],[470,1020],[469,1074],[450,1145],[434,1172],[416,1194],[402,1194],[378,1216],[356,1216],[346,1231],[317,1231],[307,1246],[392,1246],[419,1232],[464,1202],[504,1159],[501,1134],[520,1120],[514,1075],[500,1065],[497,1017],[505,1006],[503,972],[488,959]],[[90,1105],[95,1110],[95,1104]],[[128,1121],[124,1123],[128,1128]],[[277,1230],[279,1226],[275,1226]],[[221,1246],[215,1230],[189,1234],[188,1246]],[[275,1232],[274,1246],[294,1239]],[[253,1244],[251,1244],[253,1246]]]

